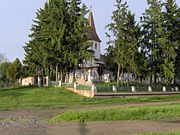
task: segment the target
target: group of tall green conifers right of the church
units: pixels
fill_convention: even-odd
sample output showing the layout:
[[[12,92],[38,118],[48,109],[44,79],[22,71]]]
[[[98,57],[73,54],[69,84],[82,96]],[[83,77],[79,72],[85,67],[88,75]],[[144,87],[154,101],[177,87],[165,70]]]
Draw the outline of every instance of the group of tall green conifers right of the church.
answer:
[[[175,0],[147,0],[148,8],[135,21],[127,2],[116,0],[109,32],[107,67],[117,72],[117,83],[124,73],[140,81],[171,84],[180,79],[180,8]],[[109,34],[110,33],[110,34]]]

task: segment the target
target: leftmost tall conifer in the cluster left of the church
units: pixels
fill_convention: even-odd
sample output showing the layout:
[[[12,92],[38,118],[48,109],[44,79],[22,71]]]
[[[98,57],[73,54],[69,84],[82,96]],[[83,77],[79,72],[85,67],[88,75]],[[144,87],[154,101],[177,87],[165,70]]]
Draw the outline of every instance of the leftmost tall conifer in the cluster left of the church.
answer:
[[[37,11],[36,20],[34,20],[35,24],[33,24],[31,28],[32,34],[29,35],[31,40],[26,43],[24,47],[26,53],[24,63],[31,69],[32,75],[39,74],[44,67],[43,61],[46,57],[43,48],[47,40],[43,39],[43,31],[45,23],[49,23],[47,21],[49,17],[47,11],[48,3],[45,3],[44,9]]]

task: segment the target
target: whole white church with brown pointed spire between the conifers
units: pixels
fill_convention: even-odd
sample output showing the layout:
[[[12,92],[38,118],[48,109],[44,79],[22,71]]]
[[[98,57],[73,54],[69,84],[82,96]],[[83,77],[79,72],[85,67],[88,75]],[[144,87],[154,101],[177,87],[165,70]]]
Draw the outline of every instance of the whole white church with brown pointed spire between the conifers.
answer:
[[[93,82],[103,80],[104,57],[101,55],[101,40],[96,32],[95,22],[92,11],[89,13],[88,26],[90,30],[87,33],[87,42],[92,44],[89,50],[94,52],[93,57],[84,60],[76,71],[75,77],[78,84],[92,84]],[[73,75],[70,74],[69,82],[73,82]]]

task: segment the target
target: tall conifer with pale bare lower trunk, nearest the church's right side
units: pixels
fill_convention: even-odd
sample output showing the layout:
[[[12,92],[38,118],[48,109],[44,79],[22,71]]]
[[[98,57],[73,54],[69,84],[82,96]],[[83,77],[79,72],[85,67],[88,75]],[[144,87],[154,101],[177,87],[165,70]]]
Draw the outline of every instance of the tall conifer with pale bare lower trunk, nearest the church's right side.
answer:
[[[138,28],[134,15],[128,11],[127,2],[122,3],[122,0],[116,0],[115,7],[116,10],[112,15],[113,22],[107,25],[107,28],[115,37],[109,43],[111,44],[111,52],[114,52],[114,62],[118,65],[117,85],[119,85],[120,71],[122,72],[122,78],[125,69],[128,73],[137,72],[135,53],[138,48]],[[108,34],[107,36],[111,37]]]

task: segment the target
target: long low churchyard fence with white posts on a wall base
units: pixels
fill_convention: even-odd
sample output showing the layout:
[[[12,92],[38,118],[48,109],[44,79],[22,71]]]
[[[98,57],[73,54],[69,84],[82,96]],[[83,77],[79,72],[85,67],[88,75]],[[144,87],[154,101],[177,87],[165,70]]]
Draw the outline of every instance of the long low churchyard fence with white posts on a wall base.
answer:
[[[129,86],[128,90],[119,90],[118,87],[112,85],[108,87],[108,90],[105,87],[99,87],[98,84],[92,84],[92,85],[80,85],[77,83],[74,84],[68,84],[68,83],[62,83],[61,81],[59,82],[53,82],[53,81],[48,81],[48,83],[46,84],[46,86],[54,86],[54,87],[64,87],[70,91],[73,91],[79,95],[85,96],[85,97],[95,97],[95,96],[99,96],[99,95],[103,95],[104,93],[110,93],[112,96],[113,94],[122,94],[123,93],[128,93],[128,94],[132,94],[135,95],[136,93],[139,93],[139,95],[142,93],[146,93],[148,95],[155,95],[156,93],[158,93],[157,95],[160,95],[163,93],[180,93],[179,92],[179,88],[177,86],[174,87],[169,87],[169,86],[162,86],[161,88],[159,88],[159,90],[157,91],[157,89],[154,89],[153,86],[147,86],[146,89],[144,89],[143,91],[139,91],[139,87],[137,86]]]

